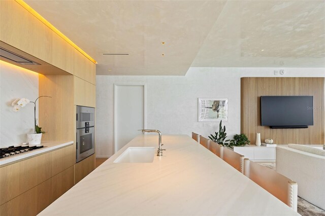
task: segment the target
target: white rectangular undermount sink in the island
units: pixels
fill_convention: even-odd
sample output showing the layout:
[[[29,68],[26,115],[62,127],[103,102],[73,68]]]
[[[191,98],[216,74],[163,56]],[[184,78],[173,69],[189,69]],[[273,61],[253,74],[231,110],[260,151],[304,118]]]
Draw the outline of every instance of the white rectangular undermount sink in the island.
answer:
[[[113,163],[152,163],[154,147],[129,147]]]

